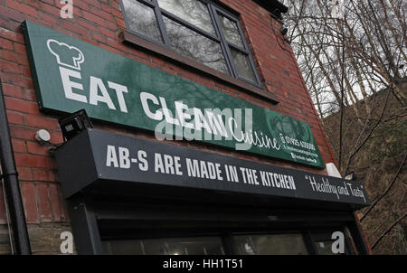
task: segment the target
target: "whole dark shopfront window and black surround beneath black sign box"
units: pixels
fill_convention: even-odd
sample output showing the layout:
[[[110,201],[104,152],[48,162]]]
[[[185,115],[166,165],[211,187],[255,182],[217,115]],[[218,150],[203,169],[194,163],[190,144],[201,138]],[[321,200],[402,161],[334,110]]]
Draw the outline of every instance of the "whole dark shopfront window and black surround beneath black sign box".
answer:
[[[122,203],[115,205],[116,198]],[[105,202],[93,196],[89,214],[94,213],[94,220],[88,225],[99,233],[89,240],[99,243],[91,245],[98,248],[92,251],[113,255],[321,255],[336,254],[338,249],[343,249],[338,254],[365,253],[351,212],[236,210],[235,206],[201,207],[201,202],[149,200],[149,196],[138,196],[137,202],[130,203],[130,198],[115,196]],[[86,220],[89,215],[82,217]],[[81,227],[86,230],[88,225]],[[83,253],[89,251],[86,247]]]

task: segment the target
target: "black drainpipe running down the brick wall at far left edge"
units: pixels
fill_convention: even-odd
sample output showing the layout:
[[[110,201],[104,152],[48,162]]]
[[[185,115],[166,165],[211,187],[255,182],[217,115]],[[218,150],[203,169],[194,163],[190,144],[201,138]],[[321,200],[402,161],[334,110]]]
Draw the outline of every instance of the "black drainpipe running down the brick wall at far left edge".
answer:
[[[28,238],[25,223],[23,201],[18,183],[18,174],[15,168],[13,146],[8,127],[7,115],[5,113],[5,98],[0,81],[0,163],[2,174],[0,178],[4,181],[6,202],[8,205],[15,249],[17,254],[31,254],[30,240]]]

